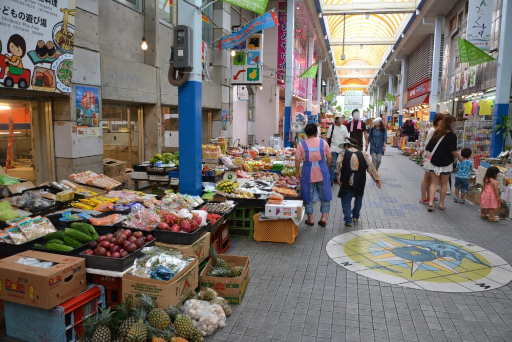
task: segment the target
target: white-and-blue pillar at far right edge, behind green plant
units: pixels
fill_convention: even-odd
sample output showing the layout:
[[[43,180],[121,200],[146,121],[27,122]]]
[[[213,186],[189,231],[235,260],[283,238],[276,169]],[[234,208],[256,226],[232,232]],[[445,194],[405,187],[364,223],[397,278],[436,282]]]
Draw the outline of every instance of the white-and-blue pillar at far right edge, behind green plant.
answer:
[[[512,2],[504,1],[501,11],[500,51],[498,55],[498,77],[496,79],[496,100],[494,104],[494,124],[501,123],[502,115],[510,116],[510,82],[512,81],[512,44],[507,34],[512,32]],[[506,136],[493,132],[490,139],[490,156],[496,157],[503,148]]]

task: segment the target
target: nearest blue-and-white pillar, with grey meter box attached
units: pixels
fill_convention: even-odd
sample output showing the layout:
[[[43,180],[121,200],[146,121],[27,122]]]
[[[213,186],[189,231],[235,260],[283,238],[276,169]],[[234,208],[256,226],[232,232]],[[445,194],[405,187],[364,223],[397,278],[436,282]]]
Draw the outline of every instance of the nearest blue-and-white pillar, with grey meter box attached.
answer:
[[[190,0],[200,7],[201,0]],[[179,146],[180,146],[180,193],[199,195],[201,193],[201,14],[186,2],[178,9],[178,24],[192,28],[193,69],[188,81],[178,88]]]

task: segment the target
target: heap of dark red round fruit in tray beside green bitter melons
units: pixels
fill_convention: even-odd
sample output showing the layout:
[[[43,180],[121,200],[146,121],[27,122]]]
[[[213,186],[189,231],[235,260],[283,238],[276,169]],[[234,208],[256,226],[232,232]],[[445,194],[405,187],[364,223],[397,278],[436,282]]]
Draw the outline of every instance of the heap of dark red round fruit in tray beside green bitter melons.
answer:
[[[68,229],[66,229],[66,233],[68,233]],[[76,233],[73,234],[73,237],[76,237]],[[118,229],[114,234],[108,233],[99,236],[94,241],[90,240],[90,248],[84,251],[84,254],[97,255],[98,257],[125,258],[128,254],[135,252],[153,240],[155,238],[151,234],[144,237],[141,231],[132,233],[130,229]]]

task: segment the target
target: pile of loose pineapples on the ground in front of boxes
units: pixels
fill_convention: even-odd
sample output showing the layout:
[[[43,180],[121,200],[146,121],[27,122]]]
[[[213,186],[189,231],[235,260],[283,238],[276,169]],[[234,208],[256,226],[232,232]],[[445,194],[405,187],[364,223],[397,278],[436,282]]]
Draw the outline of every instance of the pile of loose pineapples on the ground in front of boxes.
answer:
[[[95,321],[84,320],[80,342],[202,342],[203,335],[189,316],[174,306],[157,308],[151,296],[142,293],[131,308],[123,302],[117,311],[103,310]]]

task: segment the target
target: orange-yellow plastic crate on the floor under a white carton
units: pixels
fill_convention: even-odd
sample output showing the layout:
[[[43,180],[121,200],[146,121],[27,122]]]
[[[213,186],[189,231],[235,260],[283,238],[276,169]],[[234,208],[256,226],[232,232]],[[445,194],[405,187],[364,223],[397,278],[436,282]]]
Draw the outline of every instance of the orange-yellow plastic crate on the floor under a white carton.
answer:
[[[254,215],[254,241],[293,244],[297,235],[298,227],[292,219],[260,221],[259,215]]]

